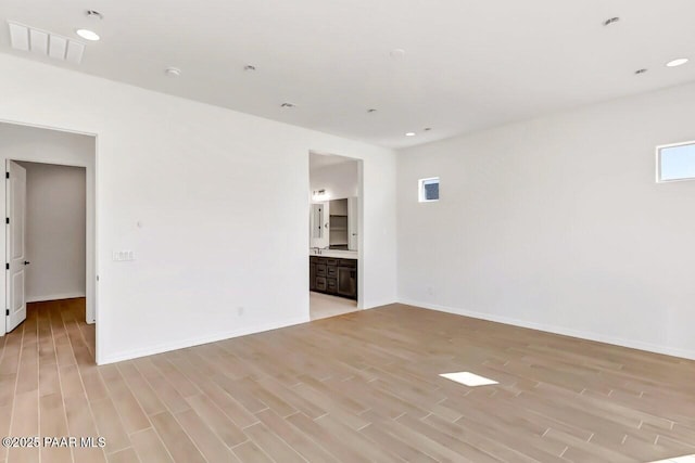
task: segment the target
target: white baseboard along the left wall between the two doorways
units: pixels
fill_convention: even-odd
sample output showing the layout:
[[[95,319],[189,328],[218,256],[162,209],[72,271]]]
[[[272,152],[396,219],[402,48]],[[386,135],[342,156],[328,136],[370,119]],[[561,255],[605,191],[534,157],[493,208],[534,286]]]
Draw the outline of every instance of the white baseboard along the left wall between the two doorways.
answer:
[[[116,352],[110,356],[99,356],[97,364],[105,365],[108,363],[121,362],[124,360],[137,359],[138,357],[153,356],[155,353],[168,352],[169,350],[184,349],[186,347],[200,346],[201,344],[215,343],[217,340],[229,339],[248,334],[262,333],[264,331],[278,330],[281,327],[292,326],[295,324],[307,323],[308,316],[295,319],[285,320],[278,323],[264,323],[255,326],[245,327],[243,330],[233,330],[228,332],[216,333],[210,336],[190,337],[172,343],[157,344],[154,346],[142,347],[132,350]]]

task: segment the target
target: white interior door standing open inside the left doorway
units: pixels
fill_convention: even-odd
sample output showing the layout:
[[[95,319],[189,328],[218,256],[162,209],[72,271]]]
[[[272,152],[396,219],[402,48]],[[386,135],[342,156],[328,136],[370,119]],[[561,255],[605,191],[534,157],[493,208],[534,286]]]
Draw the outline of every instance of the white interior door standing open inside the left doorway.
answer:
[[[8,160],[7,196],[7,331],[11,332],[26,320],[26,301],[24,297],[26,260],[26,169]]]

